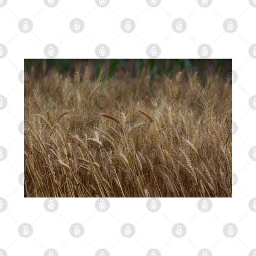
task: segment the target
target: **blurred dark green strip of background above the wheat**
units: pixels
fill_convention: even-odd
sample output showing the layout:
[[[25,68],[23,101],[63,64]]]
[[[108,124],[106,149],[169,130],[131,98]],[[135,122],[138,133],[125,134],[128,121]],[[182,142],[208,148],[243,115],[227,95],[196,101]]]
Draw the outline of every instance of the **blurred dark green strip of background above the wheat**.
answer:
[[[92,79],[98,78],[102,68],[102,79],[106,79],[117,74],[125,76],[127,72],[138,77],[145,67],[152,81],[163,75],[171,78],[186,69],[197,71],[202,80],[209,71],[223,76],[232,72],[232,59],[24,59],[24,72],[30,74],[33,71],[35,79],[41,79],[52,70],[71,77],[78,72],[82,80],[88,65]]]

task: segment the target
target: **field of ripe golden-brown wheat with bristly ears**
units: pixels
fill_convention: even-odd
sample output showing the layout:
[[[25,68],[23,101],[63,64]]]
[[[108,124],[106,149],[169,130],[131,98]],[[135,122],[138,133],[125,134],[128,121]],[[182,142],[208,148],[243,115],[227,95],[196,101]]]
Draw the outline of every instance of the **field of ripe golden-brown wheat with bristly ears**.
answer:
[[[202,82],[186,69],[152,83],[147,68],[130,80],[92,72],[28,72],[25,197],[232,197],[226,77],[209,71]]]

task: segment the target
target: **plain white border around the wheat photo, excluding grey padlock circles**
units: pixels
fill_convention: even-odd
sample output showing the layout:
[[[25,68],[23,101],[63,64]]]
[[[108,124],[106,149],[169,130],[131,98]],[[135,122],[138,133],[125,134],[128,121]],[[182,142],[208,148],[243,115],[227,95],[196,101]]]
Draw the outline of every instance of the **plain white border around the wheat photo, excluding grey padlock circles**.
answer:
[[[30,33],[21,33],[20,19],[33,21]],[[69,29],[69,22],[81,18],[85,23],[82,33]],[[135,31],[126,34],[121,20],[135,20]],[[187,22],[184,33],[175,33],[172,20],[182,17]],[[226,33],[223,22],[232,17],[238,22],[235,33]],[[146,255],[157,248],[164,255],[197,255],[208,248],[213,255],[248,255],[256,247],[256,213],[248,203],[256,196],[256,162],[249,158],[249,149],[256,145],[256,111],[249,107],[249,98],[256,94],[256,59],[249,46],[256,43],[256,8],[249,1],[213,0],[201,7],[196,0],[162,0],[152,8],[145,0],[111,0],[107,7],[98,7],[93,0],[64,1],[47,7],[43,0],[9,0],[0,8],[0,43],[8,48],[0,59],[0,94],[8,100],[0,110],[0,146],[8,151],[0,161],[0,197],[8,208],[0,213],[0,248],[9,256],[43,255],[54,248],[59,255],[94,255],[106,248],[111,256]],[[151,213],[146,198],[110,198],[110,209],[100,213],[94,198],[59,198],[54,213],[43,207],[44,198],[24,198],[18,176],[24,171],[24,136],[18,125],[24,120],[24,85],[18,74],[24,69],[24,59],[46,58],[43,53],[48,43],[59,48],[57,58],[97,58],[95,47],[106,43],[108,58],[148,58],[146,47],[156,43],[161,47],[159,58],[199,58],[197,48],[209,44],[211,58],[232,58],[232,69],[238,80],[232,85],[232,119],[238,132],[232,138],[232,171],[238,182],[232,198],[213,198],[213,208],[202,213],[197,208],[199,198],[163,198],[161,209]],[[18,234],[21,223],[33,226],[33,235],[22,238]],[[69,234],[72,223],[82,223],[85,234],[74,238]],[[122,223],[135,225],[136,234],[130,239],[121,236]],[[171,227],[181,222],[187,226],[185,237],[178,239]],[[234,238],[223,235],[223,226],[232,222],[238,226]]]

